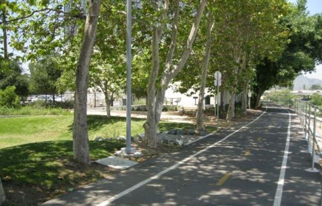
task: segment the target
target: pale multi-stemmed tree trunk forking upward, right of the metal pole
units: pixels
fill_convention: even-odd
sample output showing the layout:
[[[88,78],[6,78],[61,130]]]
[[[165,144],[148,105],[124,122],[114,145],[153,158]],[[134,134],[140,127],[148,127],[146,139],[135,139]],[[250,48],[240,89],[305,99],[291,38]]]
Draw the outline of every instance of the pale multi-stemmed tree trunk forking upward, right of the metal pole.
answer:
[[[175,44],[177,40],[177,30],[178,30],[178,17],[179,17],[179,1],[175,0],[175,14],[174,14],[174,23],[172,25],[172,35],[171,43],[169,46],[168,54],[165,62],[165,70],[161,78],[160,85],[157,89],[156,98],[155,98],[155,82],[156,76],[159,70],[159,42],[162,35],[164,20],[166,19],[166,11],[168,9],[169,1],[165,1],[165,8],[160,20],[160,24],[157,27],[156,31],[153,32],[153,42],[152,42],[152,69],[150,72],[150,79],[148,84],[147,92],[147,121],[144,123],[144,133],[145,133],[145,144],[148,147],[156,148],[156,130],[161,118],[161,112],[163,107],[163,102],[165,98],[166,89],[171,80],[179,73],[180,70],[185,66],[185,63],[190,55],[195,36],[198,31],[199,23],[201,20],[204,7],[207,0],[201,0],[200,5],[197,9],[194,23],[190,30],[189,37],[187,39],[185,49],[181,55],[181,58],[176,65],[172,65],[172,59],[175,50]]]

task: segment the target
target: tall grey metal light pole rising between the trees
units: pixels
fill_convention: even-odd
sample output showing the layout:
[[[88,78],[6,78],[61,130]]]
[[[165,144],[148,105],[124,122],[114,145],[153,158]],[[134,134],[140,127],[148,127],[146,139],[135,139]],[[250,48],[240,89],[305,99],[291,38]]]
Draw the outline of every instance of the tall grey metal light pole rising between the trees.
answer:
[[[132,64],[132,0],[126,4],[126,152],[131,151],[131,64]]]

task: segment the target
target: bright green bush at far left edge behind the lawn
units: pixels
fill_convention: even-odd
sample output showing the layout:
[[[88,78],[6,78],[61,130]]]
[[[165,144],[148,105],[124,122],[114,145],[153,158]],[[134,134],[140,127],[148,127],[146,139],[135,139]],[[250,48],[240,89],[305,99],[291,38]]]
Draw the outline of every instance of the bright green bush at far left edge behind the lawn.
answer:
[[[0,106],[7,108],[19,108],[20,98],[14,92],[15,86],[6,87],[5,90],[0,89]]]

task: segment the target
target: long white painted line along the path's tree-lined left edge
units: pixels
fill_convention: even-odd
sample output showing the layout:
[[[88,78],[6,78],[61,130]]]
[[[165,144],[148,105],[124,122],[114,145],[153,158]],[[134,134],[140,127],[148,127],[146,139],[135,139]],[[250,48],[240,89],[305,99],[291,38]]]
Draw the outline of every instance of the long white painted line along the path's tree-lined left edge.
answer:
[[[221,143],[221,142],[225,141],[228,137],[230,137],[230,136],[234,135],[235,133],[239,132],[239,131],[240,131],[240,130],[242,130],[243,128],[245,128],[245,127],[249,126],[250,124],[254,123],[254,122],[255,122],[255,121],[257,121],[261,116],[263,116],[263,115],[266,113],[266,111],[267,111],[267,107],[266,107],[266,110],[265,110],[265,111],[264,111],[264,112],[263,112],[259,117],[257,117],[256,119],[254,119],[254,120],[253,120],[253,121],[251,121],[250,123],[246,124],[245,126],[242,126],[242,127],[241,127],[241,128],[239,128],[238,130],[236,130],[236,131],[234,131],[234,132],[230,133],[229,135],[225,136],[223,139],[219,140],[218,142],[215,142],[215,143],[213,143],[212,145],[209,145],[209,146],[207,146],[206,148],[204,148],[204,149],[200,150],[199,152],[196,152],[196,153],[194,153],[194,154],[190,155],[189,157],[186,157],[185,159],[183,159],[183,160],[181,160],[180,162],[178,162],[178,163],[176,163],[176,164],[172,165],[171,167],[168,167],[168,168],[166,168],[165,170],[163,170],[163,171],[161,171],[161,172],[159,172],[159,173],[157,173],[157,174],[155,174],[155,175],[153,175],[153,176],[151,176],[151,177],[147,178],[146,180],[143,180],[142,182],[139,182],[139,183],[137,183],[136,185],[134,185],[134,186],[132,186],[132,187],[128,188],[127,190],[124,190],[123,192],[120,192],[120,193],[118,193],[118,194],[116,194],[116,195],[114,195],[114,196],[110,197],[110,198],[109,198],[109,199],[107,199],[106,201],[103,201],[103,202],[99,203],[99,204],[98,204],[98,205],[96,205],[96,206],[107,206],[107,205],[109,205],[109,203],[111,203],[111,202],[113,202],[113,201],[117,200],[118,198],[120,198],[120,197],[122,197],[122,196],[124,196],[124,195],[126,195],[126,194],[128,194],[128,193],[130,193],[130,192],[132,192],[132,191],[134,191],[134,190],[136,190],[137,188],[139,188],[139,187],[141,187],[141,186],[143,186],[143,185],[145,185],[145,184],[147,184],[147,183],[151,182],[152,180],[155,180],[155,179],[159,178],[161,175],[163,175],[163,174],[165,174],[165,173],[169,172],[170,170],[172,170],[172,169],[174,169],[174,168],[178,167],[178,166],[179,166],[179,165],[181,165],[181,164],[184,164],[185,162],[187,162],[187,161],[191,160],[192,158],[194,158],[194,157],[195,157],[195,156],[197,156],[198,154],[201,154],[201,153],[203,153],[203,152],[207,151],[208,149],[210,149],[210,148],[212,148],[212,147],[214,147],[214,146],[218,145],[219,143]],[[212,134],[213,134],[213,133],[212,133]],[[204,138],[205,138],[205,137],[207,137],[207,136],[210,136],[210,135],[212,135],[212,134],[206,135],[206,136],[204,136]],[[201,139],[204,139],[204,138],[201,138]],[[198,140],[201,140],[201,139],[198,139]]]

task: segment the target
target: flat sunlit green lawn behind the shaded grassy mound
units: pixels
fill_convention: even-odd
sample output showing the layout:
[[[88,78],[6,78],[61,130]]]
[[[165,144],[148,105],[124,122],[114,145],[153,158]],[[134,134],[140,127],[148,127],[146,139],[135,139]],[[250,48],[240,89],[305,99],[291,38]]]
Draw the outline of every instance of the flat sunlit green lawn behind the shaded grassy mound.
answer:
[[[0,149],[15,145],[23,145],[43,141],[72,140],[73,116],[32,116],[0,118]],[[145,120],[132,118],[131,134],[144,132]],[[173,128],[195,128],[192,124],[161,121],[159,131]],[[213,131],[213,128],[208,128]],[[89,115],[89,140],[95,137],[126,136],[126,118]]]

